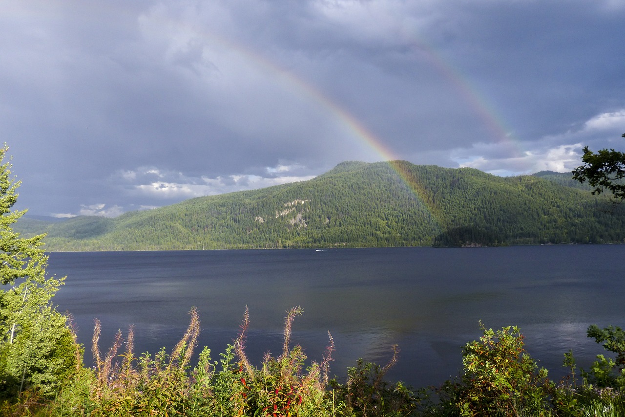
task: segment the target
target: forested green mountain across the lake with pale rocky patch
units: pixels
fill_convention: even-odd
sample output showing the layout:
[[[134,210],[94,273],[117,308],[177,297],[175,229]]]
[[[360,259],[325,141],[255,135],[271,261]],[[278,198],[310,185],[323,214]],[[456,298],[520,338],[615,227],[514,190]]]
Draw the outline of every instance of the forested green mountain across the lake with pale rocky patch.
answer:
[[[21,224],[20,224],[21,223]],[[343,162],[304,182],[192,198],[115,219],[21,219],[47,250],[476,246],[625,242],[625,206],[566,173]]]

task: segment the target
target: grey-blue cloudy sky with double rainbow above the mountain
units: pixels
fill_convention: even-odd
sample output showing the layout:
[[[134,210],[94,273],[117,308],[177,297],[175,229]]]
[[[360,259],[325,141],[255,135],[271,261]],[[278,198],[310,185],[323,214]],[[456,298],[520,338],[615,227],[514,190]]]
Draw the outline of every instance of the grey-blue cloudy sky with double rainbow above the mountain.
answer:
[[[625,149],[624,0],[0,0],[0,132],[33,215],[344,160],[496,175]]]

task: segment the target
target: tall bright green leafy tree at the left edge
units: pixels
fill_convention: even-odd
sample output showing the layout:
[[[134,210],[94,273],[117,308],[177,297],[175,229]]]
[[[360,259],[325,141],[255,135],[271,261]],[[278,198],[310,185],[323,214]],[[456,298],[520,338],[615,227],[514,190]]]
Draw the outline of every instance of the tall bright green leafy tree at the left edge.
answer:
[[[0,396],[27,388],[52,394],[81,363],[81,350],[67,319],[51,299],[64,278],[46,277],[44,235],[29,239],[11,229],[26,210],[11,211],[21,182],[0,148]]]

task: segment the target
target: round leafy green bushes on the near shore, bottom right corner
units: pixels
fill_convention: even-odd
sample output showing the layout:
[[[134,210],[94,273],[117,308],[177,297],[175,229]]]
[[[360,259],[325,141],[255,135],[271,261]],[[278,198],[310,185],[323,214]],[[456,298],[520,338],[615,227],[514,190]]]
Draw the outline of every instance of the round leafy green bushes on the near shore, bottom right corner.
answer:
[[[588,371],[576,378],[572,351],[564,354],[567,378],[555,383],[523,348],[518,327],[492,331],[481,325],[483,336],[466,344],[462,352],[464,373],[436,389],[439,401],[424,415],[436,416],[624,416],[625,385],[622,359],[625,332],[620,327],[599,329],[587,336],[616,354],[616,362],[597,355]]]

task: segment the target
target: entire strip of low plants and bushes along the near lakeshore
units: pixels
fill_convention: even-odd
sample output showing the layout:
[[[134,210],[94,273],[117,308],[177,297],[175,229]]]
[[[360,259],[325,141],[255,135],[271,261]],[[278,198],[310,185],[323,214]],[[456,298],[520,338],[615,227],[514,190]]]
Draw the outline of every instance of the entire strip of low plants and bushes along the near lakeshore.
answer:
[[[493,331],[481,325],[482,336],[462,349],[463,372],[439,388],[413,391],[384,380],[397,362],[378,366],[359,360],[347,369],[345,383],[329,379],[334,351],[332,336],[320,363],[305,367],[300,346],[291,346],[296,307],[287,312],[282,353],[266,354],[261,366],[245,353],[249,313],[241,332],[221,359],[213,361],[204,348],[197,365],[190,365],[199,334],[199,317],[192,309],[191,323],[171,354],[162,349],[136,357],[134,332],[126,340],[118,332],[106,354],[99,350],[96,321],[93,368],[81,368],[54,398],[29,389],[4,401],[0,416],[622,416],[625,390],[621,358],[625,332],[620,327],[589,327],[588,336],[603,342],[616,359],[597,361],[576,378],[572,353],[564,354],[571,374],[554,383],[547,371],[524,350],[517,327]],[[118,353],[122,346],[123,353]]]

